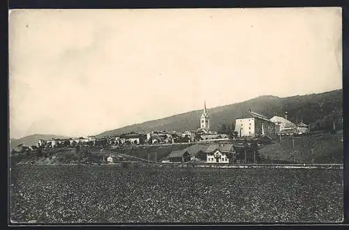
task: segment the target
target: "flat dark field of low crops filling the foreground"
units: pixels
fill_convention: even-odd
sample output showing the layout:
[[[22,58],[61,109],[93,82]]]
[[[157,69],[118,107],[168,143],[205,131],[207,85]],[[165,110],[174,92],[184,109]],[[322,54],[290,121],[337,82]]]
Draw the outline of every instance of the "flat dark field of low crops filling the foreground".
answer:
[[[340,222],[343,169],[17,166],[15,222]]]

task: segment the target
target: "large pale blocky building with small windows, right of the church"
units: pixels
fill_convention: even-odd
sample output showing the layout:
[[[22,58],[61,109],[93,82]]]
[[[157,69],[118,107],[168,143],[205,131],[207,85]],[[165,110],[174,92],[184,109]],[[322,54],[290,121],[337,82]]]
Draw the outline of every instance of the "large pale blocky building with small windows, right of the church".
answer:
[[[260,137],[276,135],[276,125],[269,118],[248,110],[248,114],[235,119],[235,132],[238,137]]]

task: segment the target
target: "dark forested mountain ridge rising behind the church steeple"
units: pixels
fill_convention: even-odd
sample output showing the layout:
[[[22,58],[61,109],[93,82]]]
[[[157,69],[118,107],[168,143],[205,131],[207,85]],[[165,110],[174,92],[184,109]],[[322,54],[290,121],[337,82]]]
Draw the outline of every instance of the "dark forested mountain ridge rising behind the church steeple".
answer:
[[[248,109],[265,114],[269,118],[272,116],[283,116],[284,112],[287,111],[290,119],[293,117],[293,120],[305,120],[306,123],[309,125],[314,125],[315,127],[316,125],[312,123],[317,121],[320,123],[320,120],[326,116],[329,116],[331,111],[337,112],[337,118],[343,114],[342,101],[342,89],[336,89],[324,93],[294,95],[285,98],[280,98],[274,95],[261,95],[244,102],[236,102],[230,105],[209,108],[207,109],[207,112],[209,113],[211,128],[213,130],[218,130],[219,126],[222,124],[232,124],[236,117],[242,116],[242,114],[244,114]],[[327,110],[325,112],[320,111],[319,116],[313,116],[313,114],[311,114],[309,111],[316,111],[317,104],[320,105],[321,103],[324,104],[322,107],[327,108]],[[295,112],[297,109],[302,109],[303,111]],[[99,135],[96,135],[96,137],[120,135],[124,132],[149,132],[150,130],[175,130],[178,132],[191,129],[195,130],[199,128],[201,113],[202,109],[197,109],[181,114],[174,114],[165,118],[158,118],[152,121],[144,121],[142,123],[126,125],[114,130],[107,130]],[[174,125],[174,123],[176,125]]]

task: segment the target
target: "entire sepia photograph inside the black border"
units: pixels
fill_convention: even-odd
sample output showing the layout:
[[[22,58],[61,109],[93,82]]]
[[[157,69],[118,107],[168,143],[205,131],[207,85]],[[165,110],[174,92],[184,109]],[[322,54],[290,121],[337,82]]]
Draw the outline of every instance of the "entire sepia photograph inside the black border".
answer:
[[[343,222],[342,10],[8,13],[9,225]]]

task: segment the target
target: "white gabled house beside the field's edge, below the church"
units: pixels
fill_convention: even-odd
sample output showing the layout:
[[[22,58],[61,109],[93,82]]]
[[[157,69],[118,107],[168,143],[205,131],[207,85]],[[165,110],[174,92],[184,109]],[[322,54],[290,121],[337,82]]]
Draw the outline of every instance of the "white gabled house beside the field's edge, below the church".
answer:
[[[229,155],[235,153],[232,144],[211,144],[205,151],[207,163],[229,163]]]

